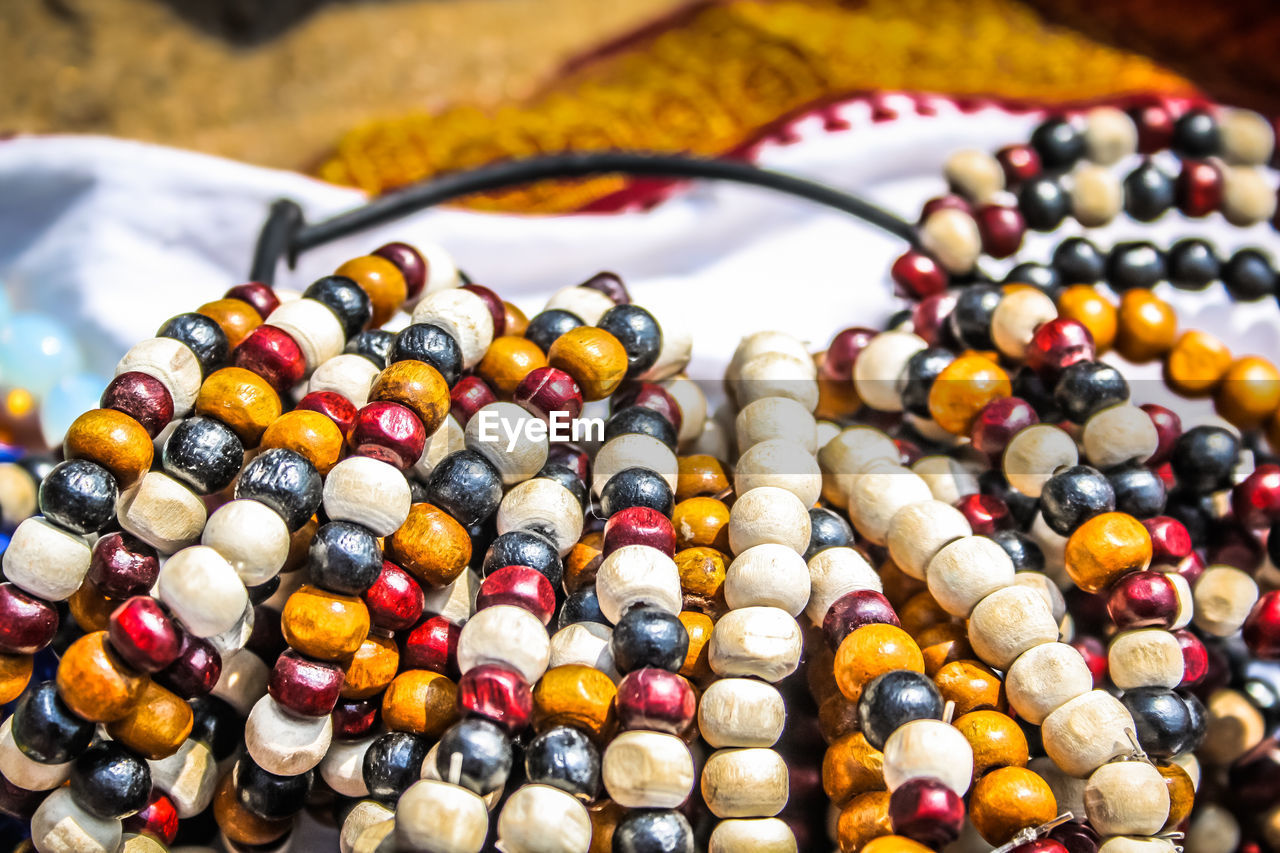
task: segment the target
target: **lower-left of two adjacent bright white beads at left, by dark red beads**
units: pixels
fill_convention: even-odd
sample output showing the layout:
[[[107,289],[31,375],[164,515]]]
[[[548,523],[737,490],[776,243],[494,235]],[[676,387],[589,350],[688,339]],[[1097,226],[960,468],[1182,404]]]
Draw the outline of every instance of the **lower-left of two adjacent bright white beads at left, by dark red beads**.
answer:
[[[196,637],[234,628],[248,606],[248,590],[221,555],[207,546],[186,548],[160,566],[156,597]]]

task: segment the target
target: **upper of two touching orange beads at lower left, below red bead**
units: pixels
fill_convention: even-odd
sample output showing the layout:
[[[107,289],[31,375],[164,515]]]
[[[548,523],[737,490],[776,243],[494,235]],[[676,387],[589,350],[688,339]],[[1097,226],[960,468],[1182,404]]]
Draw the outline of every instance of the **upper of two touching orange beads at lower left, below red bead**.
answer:
[[[106,631],[86,634],[58,662],[58,695],[91,722],[119,720],[137,703],[150,679],[122,661]]]

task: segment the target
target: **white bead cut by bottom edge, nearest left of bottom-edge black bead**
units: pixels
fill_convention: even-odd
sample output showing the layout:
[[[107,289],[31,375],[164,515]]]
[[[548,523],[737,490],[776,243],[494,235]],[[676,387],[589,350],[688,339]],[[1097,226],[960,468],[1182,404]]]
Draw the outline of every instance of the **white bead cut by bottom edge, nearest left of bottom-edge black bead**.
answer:
[[[568,792],[524,785],[498,815],[498,844],[503,853],[588,853],[591,816]]]

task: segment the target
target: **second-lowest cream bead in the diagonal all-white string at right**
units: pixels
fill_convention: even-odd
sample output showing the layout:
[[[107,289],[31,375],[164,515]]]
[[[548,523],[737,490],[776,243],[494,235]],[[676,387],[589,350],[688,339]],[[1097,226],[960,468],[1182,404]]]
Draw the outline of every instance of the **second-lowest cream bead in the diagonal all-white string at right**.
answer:
[[[1125,729],[1133,730],[1133,716],[1120,699],[1089,690],[1044,717],[1041,736],[1046,754],[1062,772],[1088,776],[1112,758],[1133,752]]]

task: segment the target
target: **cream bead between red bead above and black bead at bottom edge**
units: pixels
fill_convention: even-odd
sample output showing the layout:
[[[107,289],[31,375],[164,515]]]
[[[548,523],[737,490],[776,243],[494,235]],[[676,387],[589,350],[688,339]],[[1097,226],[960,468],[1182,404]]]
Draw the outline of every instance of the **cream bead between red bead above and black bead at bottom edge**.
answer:
[[[676,808],[694,790],[694,757],[676,735],[623,731],[605,747],[600,776],[618,806]]]

